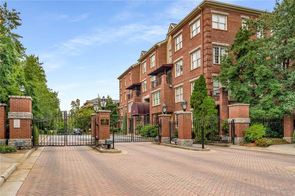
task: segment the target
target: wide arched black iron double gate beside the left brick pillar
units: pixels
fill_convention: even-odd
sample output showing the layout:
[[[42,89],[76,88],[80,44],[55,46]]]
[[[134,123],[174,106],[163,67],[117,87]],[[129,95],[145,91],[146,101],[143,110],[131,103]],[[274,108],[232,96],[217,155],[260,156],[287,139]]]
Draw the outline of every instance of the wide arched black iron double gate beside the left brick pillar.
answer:
[[[96,131],[95,128],[94,131]],[[90,116],[79,116],[77,113],[67,111],[59,111],[45,118],[34,117],[32,120],[32,140],[33,146],[96,144],[95,138],[91,136]]]

